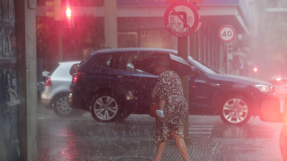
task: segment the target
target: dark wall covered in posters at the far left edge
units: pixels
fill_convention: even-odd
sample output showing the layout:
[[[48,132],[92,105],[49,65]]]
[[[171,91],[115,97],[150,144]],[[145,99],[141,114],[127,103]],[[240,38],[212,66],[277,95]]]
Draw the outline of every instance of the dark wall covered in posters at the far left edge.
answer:
[[[17,41],[15,28],[15,0],[0,0],[0,130],[6,146],[7,158],[20,156],[17,128]]]

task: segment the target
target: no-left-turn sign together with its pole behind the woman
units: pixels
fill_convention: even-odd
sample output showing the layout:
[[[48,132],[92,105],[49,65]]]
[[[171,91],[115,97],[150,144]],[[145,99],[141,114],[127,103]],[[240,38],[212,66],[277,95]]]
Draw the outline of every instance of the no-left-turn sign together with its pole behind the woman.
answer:
[[[167,1],[170,2],[170,1]],[[174,2],[174,1],[173,1]],[[178,56],[183,58],[188,62],[189,55],[189,38],[187,37],[192,32],[194,32],[199,23],[199,14],[197,9],[193,4],[187,2],[187,0],[178,0],[172,3],[164,13],[164,25],[166,30],[173,36],[177,36],[177,51]],[[189,102],[189,87],[188,87],[189,76],[181,77],[181,82],[183,86],[183,95]],[[185,144],[190,144],[189,136],[189,106],[187,108],[187,113],[185,116],[185,123],[183,127],[183,135]]]

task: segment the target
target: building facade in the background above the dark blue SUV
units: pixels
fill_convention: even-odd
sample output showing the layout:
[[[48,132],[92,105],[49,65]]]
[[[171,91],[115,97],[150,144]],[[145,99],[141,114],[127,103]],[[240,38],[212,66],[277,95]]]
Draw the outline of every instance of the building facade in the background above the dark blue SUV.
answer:
[[[177,50],[177,37],[172,36],[167,32],[163,23],[163,15],[169,4],[165,0],[116,0],[114,4],[108,4],[110,1],[100,0],[95,2],[69,1],[72,14],[75,17],[75,27],[71,30],[64,29],[63,44],[65,40],[70,40],[70,35],[77,35],[82,25],[81,19],[89,17],[89,23],[98,24],[95,28],[97,37],[91,33],[87,33],[83,39],[90,40],[86,44],[77,46],[77,52],[71,54],[69,51],[63,51],[63,60],[69,58],[81,58],[84,51],[98,50],[102,48],[126,48],[126,47],[154,47],[154,48],[169,48]],[[43,3],[42,3],[43,4]],[[63,12],[67,3],[62,2]],[[113,6],[114,5],[114,6]],[[116,11],[111,12],[108,7],[114,7]],[[226,62],[230,66],[229,73],[237,75],[248,75],[244,71],[247,66],[246,54],[248,54],[248,44],[242,43],[246,40],[249,33],[249,11],[247,3],[244,0],[220,0],[220,1],[203,1],[199,3],[199,14],[201,15],[200,22],[202,23],[199,30],[189,36],[189,55],[204,64],[227,73]],[[105,9],[106,8],[106,9]],[[45,19],[44,13],[49,10],[45,6],[37,7],[37,17]],[[113,19],[116,19],[114,21]],[[112,26],[112,28],[108,27]],[[236,30],[236,38],[230,42],[229,56],[226,55],[227,44],[220,41],[218,30],[222,25],[232,25]],[[115,30],[112,36],[107,35]],[[117,42],[114,40],[117,39]],[[86,41],[86,40],[84,40]],[[94,42],[96,41],[96,43]],[[110,44],[110,42],[114,42]],[[90,43],[90,44],[89,44]],[[80,44],[80,43],[78,43]],[[87,45],[88,44],[88,45]],[[85,45],[89,47],[84,47]],[[93,47],[95,46],[95,47]],[[245,50],[247,48],[247,50]],[[70,48],[71,49],[71,48]],[[64,50],[64,49],[63,49]],[[75,51],[75,50],[74,50]],[[84,53],[83,53],[84,54]],[[70,56],[73,55],[73,56]]]

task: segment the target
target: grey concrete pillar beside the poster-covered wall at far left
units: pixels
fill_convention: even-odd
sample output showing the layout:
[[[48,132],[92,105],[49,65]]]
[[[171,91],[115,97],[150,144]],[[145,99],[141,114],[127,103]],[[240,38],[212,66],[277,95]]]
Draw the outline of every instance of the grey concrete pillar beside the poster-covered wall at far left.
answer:
[[[36,10],[28,8],[28,1],[16,3],[18,137],[21,160],[38,160]]]

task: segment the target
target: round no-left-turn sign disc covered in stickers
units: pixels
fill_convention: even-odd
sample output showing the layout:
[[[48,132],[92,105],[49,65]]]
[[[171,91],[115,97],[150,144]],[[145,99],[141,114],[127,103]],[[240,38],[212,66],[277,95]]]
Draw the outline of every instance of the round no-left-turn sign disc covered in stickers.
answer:
[[[198,21],[197,9],[187,1],[172,3],[164,13],[166,30],[177,37],[188,36],[194,32]]]

